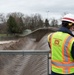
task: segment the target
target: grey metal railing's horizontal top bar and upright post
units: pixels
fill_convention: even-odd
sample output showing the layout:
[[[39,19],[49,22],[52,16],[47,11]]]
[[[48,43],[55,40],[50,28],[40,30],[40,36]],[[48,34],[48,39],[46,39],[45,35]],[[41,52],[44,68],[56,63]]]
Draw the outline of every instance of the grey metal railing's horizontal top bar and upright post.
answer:
[[[49,50],[0,50],[0,55],[47,55],[47,75],[49,75]]]

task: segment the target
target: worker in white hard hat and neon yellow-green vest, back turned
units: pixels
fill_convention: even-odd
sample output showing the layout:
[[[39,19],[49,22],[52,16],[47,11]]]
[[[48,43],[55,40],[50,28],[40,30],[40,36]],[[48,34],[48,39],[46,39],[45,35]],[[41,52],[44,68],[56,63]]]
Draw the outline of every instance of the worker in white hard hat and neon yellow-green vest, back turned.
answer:
[[[66,14],[57,32],[48,35],[51,75],[74,75],[74,15]]]

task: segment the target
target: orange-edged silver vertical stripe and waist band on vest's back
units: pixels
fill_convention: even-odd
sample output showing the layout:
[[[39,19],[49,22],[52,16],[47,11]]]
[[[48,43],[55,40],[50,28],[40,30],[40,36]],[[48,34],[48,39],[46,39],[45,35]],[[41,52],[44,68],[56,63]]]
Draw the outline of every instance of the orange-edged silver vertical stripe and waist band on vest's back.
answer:
[[[74,67],[74,62],[70,61],[70,54],[68,53],[68,47],[70,47],[69,41],[72,41],[73,39],[74,38],[72,36],[68,35],[63,43],[63,46],[62,46],[63,61],[58,62],[58,61],[52,60],[52,65],[62,68],[64,74],[70,73],[70,68]]]

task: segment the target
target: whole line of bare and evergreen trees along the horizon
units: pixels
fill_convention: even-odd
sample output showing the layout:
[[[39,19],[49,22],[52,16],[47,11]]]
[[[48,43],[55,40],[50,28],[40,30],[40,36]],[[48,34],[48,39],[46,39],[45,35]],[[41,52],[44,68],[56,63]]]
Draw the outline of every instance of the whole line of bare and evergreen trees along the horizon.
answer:
[[[40,14],[24,15],[20,12],[0,14],[0,33],[21,34],[26,29],[36,30],[38,28],[58,26],[58,21],[53,19],[51,25],[49,20],[43,20]]]

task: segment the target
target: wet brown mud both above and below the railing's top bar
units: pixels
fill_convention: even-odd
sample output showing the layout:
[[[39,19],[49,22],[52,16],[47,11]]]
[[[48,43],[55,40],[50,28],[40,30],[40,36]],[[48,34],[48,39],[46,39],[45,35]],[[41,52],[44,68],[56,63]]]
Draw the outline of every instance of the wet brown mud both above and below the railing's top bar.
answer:
[[[49,50],[48,33],[38,41],[29,35],[3,44],[2,50]],[[47,75],[47,67],[46,55],[0,55],[0,75]]]

